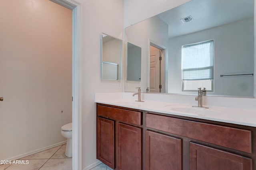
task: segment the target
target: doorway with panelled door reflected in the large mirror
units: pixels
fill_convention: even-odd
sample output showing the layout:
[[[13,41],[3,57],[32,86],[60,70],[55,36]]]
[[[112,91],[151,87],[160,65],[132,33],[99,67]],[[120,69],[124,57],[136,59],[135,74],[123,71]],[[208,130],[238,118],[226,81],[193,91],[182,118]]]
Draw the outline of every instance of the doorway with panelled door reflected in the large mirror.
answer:
[[[150,43],[150,92],[165,93],[165,48]]]

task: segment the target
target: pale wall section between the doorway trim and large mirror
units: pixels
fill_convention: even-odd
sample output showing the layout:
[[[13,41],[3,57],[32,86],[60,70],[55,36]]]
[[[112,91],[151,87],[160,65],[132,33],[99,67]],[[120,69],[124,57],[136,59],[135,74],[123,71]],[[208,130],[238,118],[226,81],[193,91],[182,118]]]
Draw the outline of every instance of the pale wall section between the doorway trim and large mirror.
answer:
[[[98,92],[122,92],[122,81],[101,80],[100,37],[123,39],[122,0],[77,0],[82,20],[82,169],[96,159],[96,104]],[[124,48],[123,48],[124,49]]]

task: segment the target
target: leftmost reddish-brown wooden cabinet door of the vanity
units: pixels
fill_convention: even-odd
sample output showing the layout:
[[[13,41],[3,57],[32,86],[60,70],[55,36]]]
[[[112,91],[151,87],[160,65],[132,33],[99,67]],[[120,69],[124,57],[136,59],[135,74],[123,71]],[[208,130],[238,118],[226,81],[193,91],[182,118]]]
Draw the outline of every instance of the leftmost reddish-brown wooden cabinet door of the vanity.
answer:
[[[114,169],[114,121],[98,117],[97,159]]]

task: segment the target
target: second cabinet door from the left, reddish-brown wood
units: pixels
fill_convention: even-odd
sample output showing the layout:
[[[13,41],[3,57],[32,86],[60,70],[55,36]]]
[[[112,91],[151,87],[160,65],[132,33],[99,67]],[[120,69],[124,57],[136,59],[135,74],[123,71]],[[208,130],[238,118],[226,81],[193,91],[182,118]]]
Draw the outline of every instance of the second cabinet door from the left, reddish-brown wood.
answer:
[[[117,123],[118,170],[141,170],[141,129]]]

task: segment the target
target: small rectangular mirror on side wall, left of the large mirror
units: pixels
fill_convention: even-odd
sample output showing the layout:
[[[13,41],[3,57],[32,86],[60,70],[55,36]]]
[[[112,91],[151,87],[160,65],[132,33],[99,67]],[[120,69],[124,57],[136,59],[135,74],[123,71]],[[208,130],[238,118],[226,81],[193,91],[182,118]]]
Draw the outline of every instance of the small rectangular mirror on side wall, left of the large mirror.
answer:
[[[102,33],[101,78],[121,80],[122,40]]]

